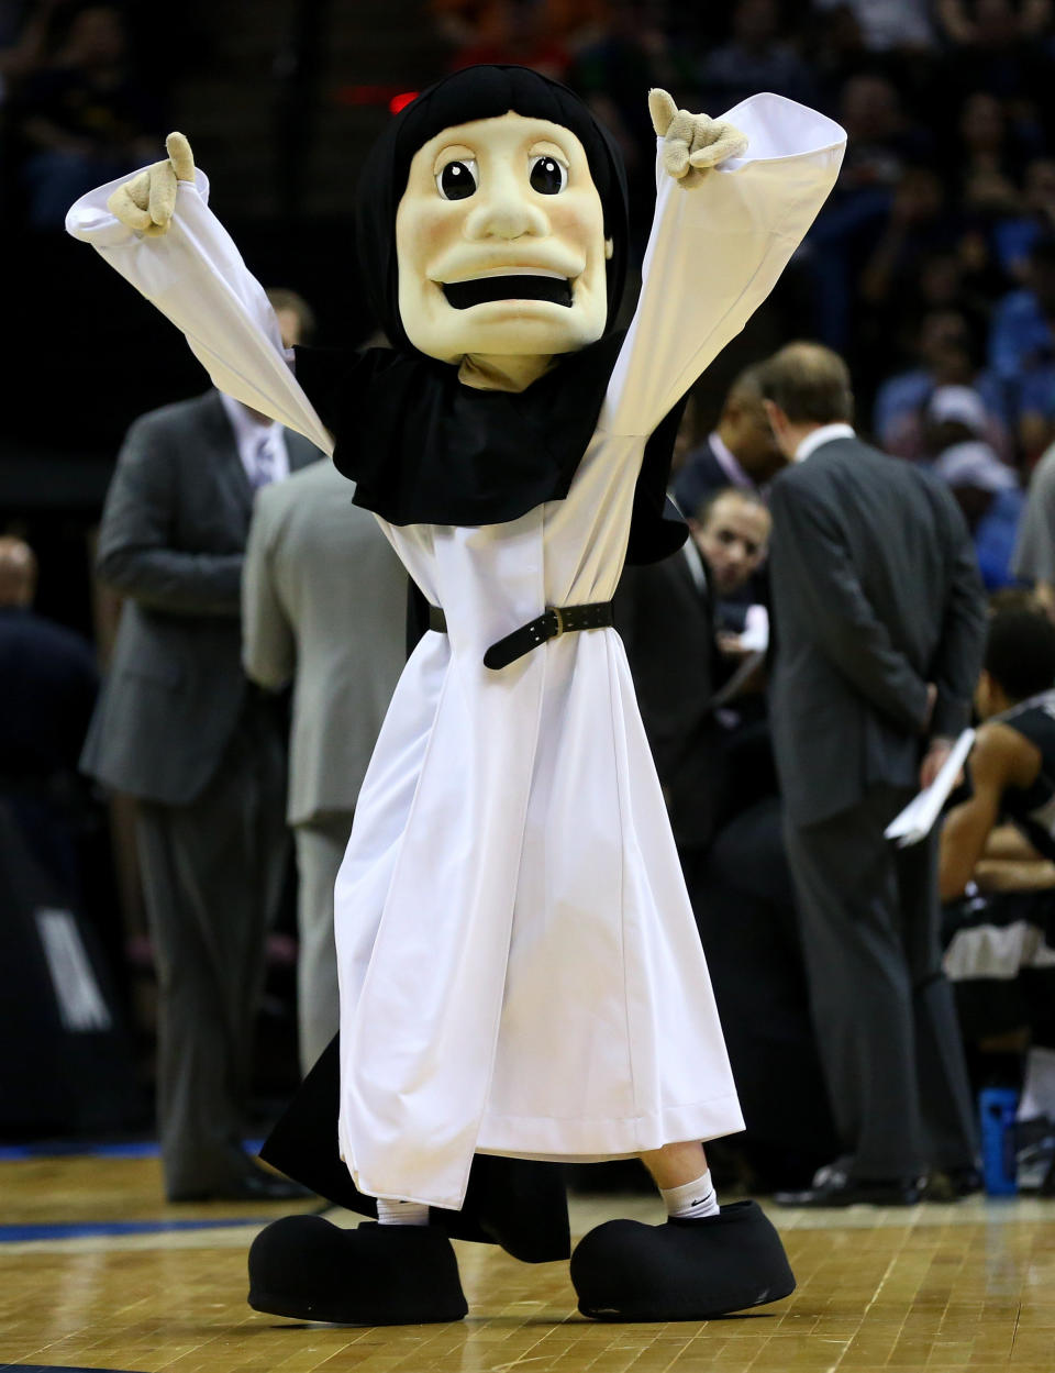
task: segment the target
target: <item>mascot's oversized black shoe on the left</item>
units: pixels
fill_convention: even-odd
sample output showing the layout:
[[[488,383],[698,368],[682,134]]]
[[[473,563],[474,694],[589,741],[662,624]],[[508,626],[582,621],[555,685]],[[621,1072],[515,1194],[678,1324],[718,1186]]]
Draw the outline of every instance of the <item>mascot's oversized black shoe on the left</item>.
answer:
[[[287,1215],[250,1247],[250,1306],[295,1321],[427,1325],[469,1310],[450,1240],[428,1225],[342,1230]]]

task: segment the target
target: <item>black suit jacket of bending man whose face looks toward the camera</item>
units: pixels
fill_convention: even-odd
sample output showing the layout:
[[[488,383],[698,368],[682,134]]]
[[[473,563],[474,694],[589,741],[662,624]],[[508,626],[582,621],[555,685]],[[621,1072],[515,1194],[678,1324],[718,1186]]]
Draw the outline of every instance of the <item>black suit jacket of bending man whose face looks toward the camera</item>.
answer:
[[[702,562],[702,560],[701,560]],[[656,770],[682,849],[711,842],[722,778],[722,730],[709,704],[719,662],[713,610],[686,553],[627,567],[615,597]]]

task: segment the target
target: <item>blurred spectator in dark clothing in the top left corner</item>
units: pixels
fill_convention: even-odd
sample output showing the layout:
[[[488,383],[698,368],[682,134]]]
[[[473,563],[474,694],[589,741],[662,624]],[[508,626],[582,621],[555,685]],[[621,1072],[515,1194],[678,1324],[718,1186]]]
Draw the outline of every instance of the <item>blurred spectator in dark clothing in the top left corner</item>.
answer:
[[[165,121],[134,71],[121,11],[89,5],[55,60],[26,80],[14,122],[36,228],[60,228],[77,196],[152,157]]]

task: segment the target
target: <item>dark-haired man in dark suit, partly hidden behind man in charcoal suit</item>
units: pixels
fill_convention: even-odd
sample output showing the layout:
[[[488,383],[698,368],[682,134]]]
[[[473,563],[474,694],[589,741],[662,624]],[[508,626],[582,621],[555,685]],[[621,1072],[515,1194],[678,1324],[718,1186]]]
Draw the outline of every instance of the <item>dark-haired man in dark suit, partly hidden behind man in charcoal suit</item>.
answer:
[[[679,468],[674,498],[685,515],[697,518],[701,507],[723,486],[759,492],[783,463],[766,417],[759,369],[748,367],[728,389],[715,431]]]

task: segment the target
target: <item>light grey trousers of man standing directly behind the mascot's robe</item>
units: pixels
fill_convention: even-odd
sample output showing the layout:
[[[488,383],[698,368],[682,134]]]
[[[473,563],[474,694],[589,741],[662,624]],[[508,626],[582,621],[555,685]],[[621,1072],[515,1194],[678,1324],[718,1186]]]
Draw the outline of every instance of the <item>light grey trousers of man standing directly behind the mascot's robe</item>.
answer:
[[[353,811],[335,810],[294,827],[299,895],[296,920],[296,1012],[300,1071],[307,1075],[337,1032],[337,953],[333,945],[333,886],[348,846]]]

